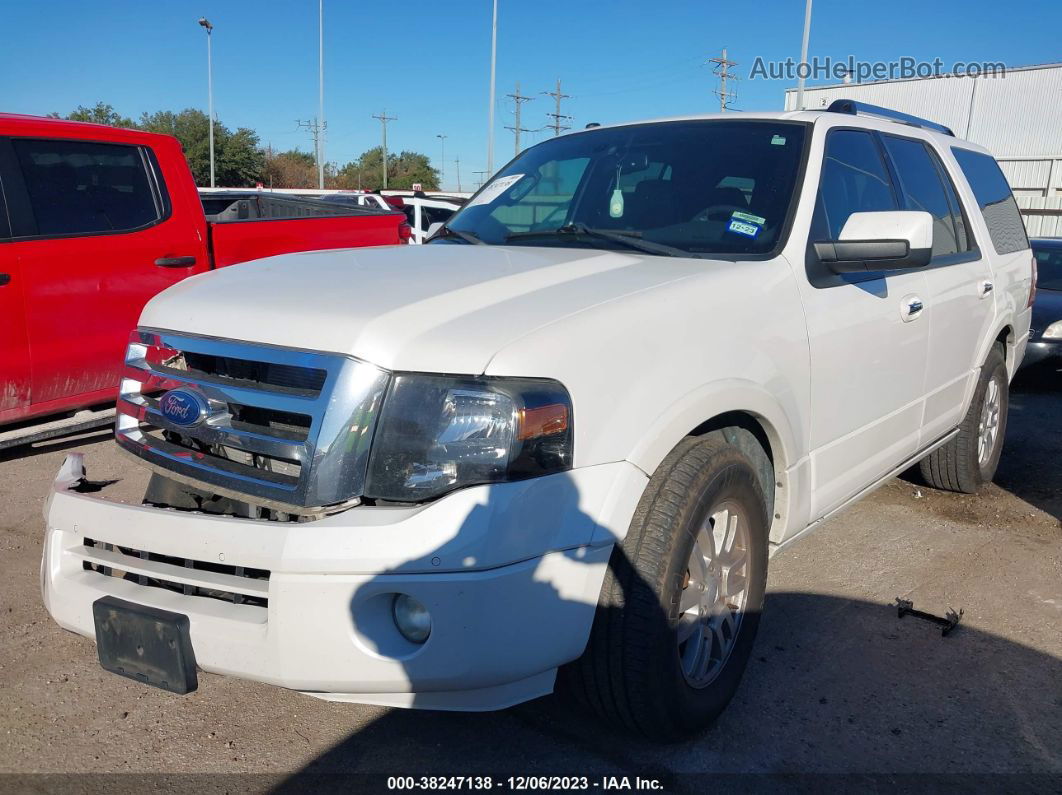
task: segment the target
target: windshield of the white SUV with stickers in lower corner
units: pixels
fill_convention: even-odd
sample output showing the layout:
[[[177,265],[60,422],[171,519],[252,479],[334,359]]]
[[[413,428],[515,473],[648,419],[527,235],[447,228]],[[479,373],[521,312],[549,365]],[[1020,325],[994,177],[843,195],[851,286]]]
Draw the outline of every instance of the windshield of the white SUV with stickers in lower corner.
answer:
[[[440,242],[772,250],[793,202],[806,125],[678,121],[577,133],[524,152],[448,224]]]

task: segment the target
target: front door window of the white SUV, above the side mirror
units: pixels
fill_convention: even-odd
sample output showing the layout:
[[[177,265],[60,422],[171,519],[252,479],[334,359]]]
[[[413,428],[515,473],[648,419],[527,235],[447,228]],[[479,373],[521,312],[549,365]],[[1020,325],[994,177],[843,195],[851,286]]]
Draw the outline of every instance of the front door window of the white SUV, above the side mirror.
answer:
[[[813,227],[837,240],[853,212],[897,210],[881,152],[870,133],[835,129],[826,138]]]

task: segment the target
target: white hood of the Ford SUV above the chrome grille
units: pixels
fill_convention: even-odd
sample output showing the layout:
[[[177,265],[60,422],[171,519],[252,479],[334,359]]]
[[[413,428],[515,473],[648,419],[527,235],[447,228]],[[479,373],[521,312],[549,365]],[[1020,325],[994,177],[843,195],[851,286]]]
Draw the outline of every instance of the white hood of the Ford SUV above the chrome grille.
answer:
[[[344,353],[388,369],[479,374],[537,328],[710,266],[585,248],[310,252],[186,279],[153,298],[140,325]],[[620,315],[617,323],[632,321]]]

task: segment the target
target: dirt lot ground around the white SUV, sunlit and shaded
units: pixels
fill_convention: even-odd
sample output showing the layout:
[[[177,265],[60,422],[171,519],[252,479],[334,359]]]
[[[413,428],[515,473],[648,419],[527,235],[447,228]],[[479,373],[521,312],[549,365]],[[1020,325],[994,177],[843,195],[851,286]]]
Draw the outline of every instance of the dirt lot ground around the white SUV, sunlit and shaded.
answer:
[[[182,697],[107,674],[93,644],[40,604],[40,511],[69,450],[87,454],[93,479],[125,479],[129,497],[143,485],[106,433],[0,459],[0,773],[270,774],[192,779],[198,792],[335,773],[641,775],[690,790],[718,782],[712,773],[872,774],[890,788],[948,774],[958,778],[939,780],[1062,788],[1062,378],[1017,385],[997,485],[960,497],[895,480],[775,558],[737,697],[714,729],[672,746],[615,733],[556,697],[424,713],[209,674]],[[896,597],[965,616],[941,638],[897,620]],[[106,779],[0,777],[0,789],[92,780]]]

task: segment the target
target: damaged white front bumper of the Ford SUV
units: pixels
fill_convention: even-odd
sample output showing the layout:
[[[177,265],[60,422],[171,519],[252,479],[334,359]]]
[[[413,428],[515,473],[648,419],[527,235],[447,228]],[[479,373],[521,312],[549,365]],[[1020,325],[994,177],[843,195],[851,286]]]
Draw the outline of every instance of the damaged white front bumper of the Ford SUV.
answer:
[[[427,709],[550,692],[585,646],[612,547],[647,482],[621,462],[281,523],[79,494],[79,459],[45,509],[41,590],[61,626],[92,638],[92,603],[115,595],[188,616],[204,671]],[[395,593],[431,611],[424,644],[394,626]]]

